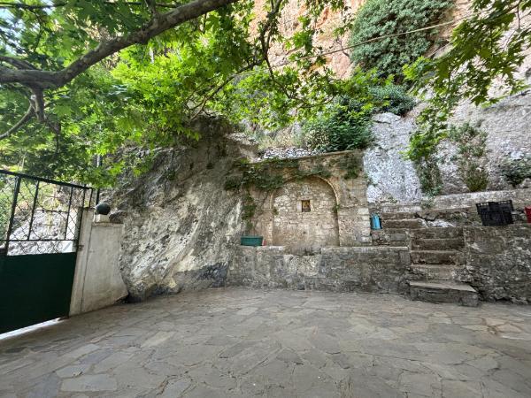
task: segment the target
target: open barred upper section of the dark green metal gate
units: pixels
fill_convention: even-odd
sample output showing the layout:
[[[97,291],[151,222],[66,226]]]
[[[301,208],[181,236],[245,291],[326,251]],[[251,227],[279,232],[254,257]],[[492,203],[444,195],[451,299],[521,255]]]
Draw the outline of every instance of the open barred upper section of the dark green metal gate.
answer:
[[[77,249],[92,188],[0,170],[0,255]]]

